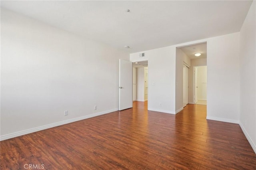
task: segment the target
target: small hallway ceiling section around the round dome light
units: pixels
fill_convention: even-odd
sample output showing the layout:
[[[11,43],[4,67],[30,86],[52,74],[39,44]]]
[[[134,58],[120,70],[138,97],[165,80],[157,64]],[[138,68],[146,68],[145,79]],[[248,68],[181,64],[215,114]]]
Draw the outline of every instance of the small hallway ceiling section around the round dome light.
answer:
[[[186,47],[180,47],[180,49],[190,58],[190,59],[198,59],[198,58],[206,58],[207,57],[207,44],[200,43],[195,45],[189,45]],[[201,53],[199,57],[195,56],[195,53]]]

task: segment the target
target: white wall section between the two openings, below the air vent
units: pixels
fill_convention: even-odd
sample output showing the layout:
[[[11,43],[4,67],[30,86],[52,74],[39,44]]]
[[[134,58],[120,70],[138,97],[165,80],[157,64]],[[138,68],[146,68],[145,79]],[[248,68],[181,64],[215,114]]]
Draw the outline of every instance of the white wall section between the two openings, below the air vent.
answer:
[[[175,51],[169,46],[143,51],[142,58],[141,52],[130,54],[132,62],[148,59],[148,110],[175,114]]]

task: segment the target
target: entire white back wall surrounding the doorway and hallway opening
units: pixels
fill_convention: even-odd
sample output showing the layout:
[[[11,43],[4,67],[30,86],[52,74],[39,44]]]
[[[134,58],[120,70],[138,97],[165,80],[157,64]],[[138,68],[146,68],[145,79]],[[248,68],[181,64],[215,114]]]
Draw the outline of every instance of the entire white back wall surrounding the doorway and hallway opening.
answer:
[[[239,33],[143,51],[149,59],[148,108],[175,113],[182,107],[182,100],[175,96],[182,96],[183,85],[182,59],[176,61],[176,47],[203,42],[207,42],[207,119],[238,123]],[[145,60],[138,54],[130,54],[130,61]]]

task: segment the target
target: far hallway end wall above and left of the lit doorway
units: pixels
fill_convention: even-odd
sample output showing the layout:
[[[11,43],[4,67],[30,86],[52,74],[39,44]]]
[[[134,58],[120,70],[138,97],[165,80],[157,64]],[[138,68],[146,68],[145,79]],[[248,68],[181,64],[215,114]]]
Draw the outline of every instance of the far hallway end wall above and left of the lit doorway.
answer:
[[[206,58],[198,58],[191,60],[191,67],[188,70],[189,74],[189,81],[188,81],[188,103],[194,104],[194,67],[196,66],[203,66],[207,65]]]

